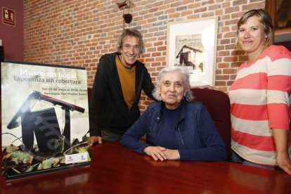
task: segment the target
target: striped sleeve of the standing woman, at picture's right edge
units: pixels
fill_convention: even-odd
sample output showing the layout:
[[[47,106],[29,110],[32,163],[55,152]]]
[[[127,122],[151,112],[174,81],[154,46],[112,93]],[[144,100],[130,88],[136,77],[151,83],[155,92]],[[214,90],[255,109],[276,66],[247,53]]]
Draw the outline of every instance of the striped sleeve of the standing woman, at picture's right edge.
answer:
[[[271,128],[289,129],[291,92],[291,53],[276,46],[269,54],[267,65],[267,107]]]

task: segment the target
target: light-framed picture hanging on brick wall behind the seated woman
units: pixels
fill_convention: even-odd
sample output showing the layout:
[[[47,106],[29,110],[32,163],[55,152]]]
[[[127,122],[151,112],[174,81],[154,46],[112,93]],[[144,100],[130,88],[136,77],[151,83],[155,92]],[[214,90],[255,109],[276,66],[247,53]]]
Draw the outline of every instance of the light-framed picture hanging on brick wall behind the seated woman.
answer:
[[[191,86],[214,86],[217,18],[169,22],[167,65],[186,66]]]

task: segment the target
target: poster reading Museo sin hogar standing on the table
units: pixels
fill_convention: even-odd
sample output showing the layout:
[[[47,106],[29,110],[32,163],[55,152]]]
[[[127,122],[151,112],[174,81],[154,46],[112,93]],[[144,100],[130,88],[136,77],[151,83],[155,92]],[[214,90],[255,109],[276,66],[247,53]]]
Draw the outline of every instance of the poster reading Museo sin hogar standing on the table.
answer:
[[[1,111],[7,181],[89,166],[85,68],[1,63]]]

